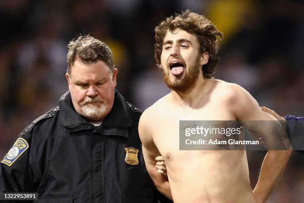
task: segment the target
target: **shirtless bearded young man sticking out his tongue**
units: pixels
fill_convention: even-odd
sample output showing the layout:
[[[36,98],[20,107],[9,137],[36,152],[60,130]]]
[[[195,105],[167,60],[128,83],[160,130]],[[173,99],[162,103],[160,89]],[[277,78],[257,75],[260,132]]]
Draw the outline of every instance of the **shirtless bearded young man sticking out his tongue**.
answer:
[[[174,203],[266,202],[291,155],[268,151],[252,191],[245,151],[179,150],[179,120],[276,120],[241,87],[213,79],[221,38],[212,22],[189,10],[155,28],[155,59],[171,93],[143,113],[139,133],[147,170]],[[159,154],[168,179],[155,170]]]

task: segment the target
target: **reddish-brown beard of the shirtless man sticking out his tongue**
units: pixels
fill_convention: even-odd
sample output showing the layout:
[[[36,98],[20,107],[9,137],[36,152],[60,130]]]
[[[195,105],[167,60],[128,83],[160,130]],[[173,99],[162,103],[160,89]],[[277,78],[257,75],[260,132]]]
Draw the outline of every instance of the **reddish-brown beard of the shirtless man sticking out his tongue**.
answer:
[[[173,81],[170,79],[170,72],[164,73],[162,68],[160,68],[160,71],[162,73],[164,82],[170,90],[176,92],[185,92],[194,86],[200,74],[200,67],[199,58],[197,58],[195,63],[191,64],[189,67],[186,67],[187,73],[183,79],[174,78]]]

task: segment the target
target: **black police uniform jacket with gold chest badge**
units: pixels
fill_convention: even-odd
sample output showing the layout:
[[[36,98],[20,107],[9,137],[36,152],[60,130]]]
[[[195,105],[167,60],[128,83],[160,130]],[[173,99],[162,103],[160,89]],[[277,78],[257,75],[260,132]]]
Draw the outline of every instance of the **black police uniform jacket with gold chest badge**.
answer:
[[[141,113],[116,91],[112,110],[95,127],[67,92],[16,138],[19,153],[9,150],[0,164],[0,192],[37,192],[39,203],[154,203],[138,134]]]

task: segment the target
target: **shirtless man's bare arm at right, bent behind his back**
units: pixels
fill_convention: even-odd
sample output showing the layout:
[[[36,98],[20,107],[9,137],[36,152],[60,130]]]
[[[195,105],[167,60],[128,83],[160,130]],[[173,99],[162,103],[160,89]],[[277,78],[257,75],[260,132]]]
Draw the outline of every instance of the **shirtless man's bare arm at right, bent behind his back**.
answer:
[[[259,108],[258,103],[247,91],[236,85],[231,84],[231,86],[234,94],[231,96],[230,106],[236,119],[242,121],[277,121],[277,119],[271,114],[263,112]],[[250,125],[248,126],[249,128],[263,136],[266,148],[267,146],[271,146],[273,142],[277,141],[272,137],[273,129],[269,128],[267,125],[261,127],[254,126],[254,124],[250,122],[247,123]],[[278,126],[281,126],[280,123],[278,123]],[[284,129],[282,129],[282,131],[284,131]],[[259,180],[255,189],[253,190],[257,203],[265,203],[267,201],[279,182],[291,153],[291,150],[268,150],[262,163]]]

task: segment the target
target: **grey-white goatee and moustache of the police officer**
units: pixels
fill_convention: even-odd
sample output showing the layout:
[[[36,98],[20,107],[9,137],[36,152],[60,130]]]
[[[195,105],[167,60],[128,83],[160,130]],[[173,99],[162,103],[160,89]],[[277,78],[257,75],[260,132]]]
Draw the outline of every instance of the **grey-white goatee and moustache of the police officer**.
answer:
[[[84,116],[90,119],[100,119],[105,114],[108,105],[104,100],[97,97],[95,98],[85,98],[85,100],[80,104],[81,111]]]

